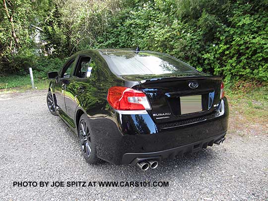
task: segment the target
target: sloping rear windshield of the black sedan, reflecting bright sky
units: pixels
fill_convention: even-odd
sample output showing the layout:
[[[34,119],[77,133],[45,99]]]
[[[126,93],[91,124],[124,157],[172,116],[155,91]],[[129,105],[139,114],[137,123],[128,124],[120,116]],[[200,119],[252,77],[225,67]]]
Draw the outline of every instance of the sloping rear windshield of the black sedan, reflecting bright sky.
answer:
[[[118,75],[197,72],[180,60],[157,53],[113,52],[104,54],[103,57]]]

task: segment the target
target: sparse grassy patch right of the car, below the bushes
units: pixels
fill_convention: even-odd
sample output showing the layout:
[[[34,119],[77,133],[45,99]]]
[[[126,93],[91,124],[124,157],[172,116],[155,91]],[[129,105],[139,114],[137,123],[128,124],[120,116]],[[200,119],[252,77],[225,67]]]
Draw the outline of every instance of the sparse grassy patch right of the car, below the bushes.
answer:
[[[268,85],[238,82],[230,86],[225,92],[230,109],[228,133],[268,134]]]

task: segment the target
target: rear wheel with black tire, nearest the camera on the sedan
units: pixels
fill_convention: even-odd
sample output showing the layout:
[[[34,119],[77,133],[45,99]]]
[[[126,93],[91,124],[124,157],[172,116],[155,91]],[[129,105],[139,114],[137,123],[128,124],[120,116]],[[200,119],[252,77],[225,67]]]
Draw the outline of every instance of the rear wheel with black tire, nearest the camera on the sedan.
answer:
[[[87,116],[83,114],[79,120],[78,137],[82,154],[87,163],[97,164],[102,160],[97,157],[96,144],[94,143],[94,136],[90,132]]]

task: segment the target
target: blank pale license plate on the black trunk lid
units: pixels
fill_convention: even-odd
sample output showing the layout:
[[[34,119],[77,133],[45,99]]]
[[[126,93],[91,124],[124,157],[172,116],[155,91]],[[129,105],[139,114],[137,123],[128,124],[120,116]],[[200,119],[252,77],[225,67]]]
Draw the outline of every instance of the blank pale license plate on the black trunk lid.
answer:
[[[189,114],[202,111],[202,96],[181,96],[181,114]]]

